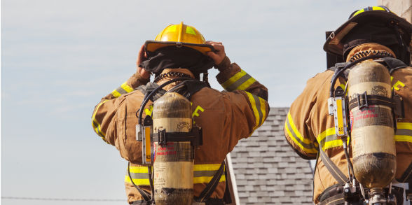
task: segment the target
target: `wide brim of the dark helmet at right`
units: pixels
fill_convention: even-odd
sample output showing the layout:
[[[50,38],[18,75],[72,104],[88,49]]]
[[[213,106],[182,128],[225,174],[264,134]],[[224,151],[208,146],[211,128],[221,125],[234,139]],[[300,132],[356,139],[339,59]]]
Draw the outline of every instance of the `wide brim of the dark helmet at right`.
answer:
[[[389,25],[392,20],[399,28],[406,31],[409,36],[412,34],[412,24],[404,18],[384,10],[370,10],[351,17],[347,22],[342,24],[341,27],[338,27],[338,29],[332,32],[324,43],[323,50],[334,55],[343,55],[343,43],[341,40],[350,33],[353,28],[367,22],[387,22]]]

